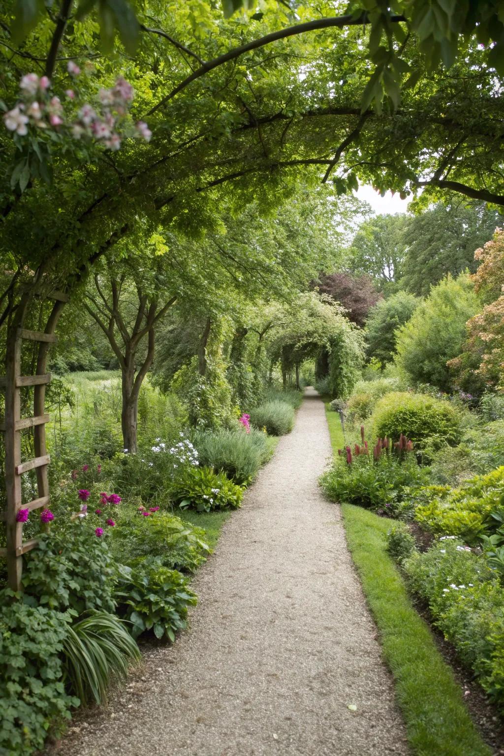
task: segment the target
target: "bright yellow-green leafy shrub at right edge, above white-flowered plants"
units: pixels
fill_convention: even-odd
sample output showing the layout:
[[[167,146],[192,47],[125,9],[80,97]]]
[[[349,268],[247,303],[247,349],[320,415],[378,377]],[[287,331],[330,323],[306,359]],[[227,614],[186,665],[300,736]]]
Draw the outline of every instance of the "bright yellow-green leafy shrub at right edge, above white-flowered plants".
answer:
[[[482,534],[499,528],[492,513],[504,503],[504,466],[465,481],[459,488],[430,491],[425,503],[416,507],[415,517],[434,534],[457,535],[475,544]]]

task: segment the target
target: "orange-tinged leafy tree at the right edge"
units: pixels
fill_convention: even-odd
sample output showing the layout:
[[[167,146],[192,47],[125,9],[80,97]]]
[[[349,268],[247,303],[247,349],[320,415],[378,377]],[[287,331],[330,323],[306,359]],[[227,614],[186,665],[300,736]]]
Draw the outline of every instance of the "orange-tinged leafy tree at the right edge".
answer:
[[[472,280],[487,304],[467,322],[463,352],[450,361],[449,367],[465,390],[504,391],[504,232],[501,229],[497,229],[493,239],[482,249],[476,250],[475,259],[481,264]]]

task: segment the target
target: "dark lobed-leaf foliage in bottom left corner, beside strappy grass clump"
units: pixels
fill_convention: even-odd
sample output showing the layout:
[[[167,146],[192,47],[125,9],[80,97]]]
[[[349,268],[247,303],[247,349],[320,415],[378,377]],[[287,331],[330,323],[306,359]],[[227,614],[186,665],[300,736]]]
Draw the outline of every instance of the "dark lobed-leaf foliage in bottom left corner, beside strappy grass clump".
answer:
[[[70,719],[79,699],[63,685],[61,655],[71,618],[47,606],[29,606],[20,594],[0,593],[0,752],[42,748],[51,724]]]

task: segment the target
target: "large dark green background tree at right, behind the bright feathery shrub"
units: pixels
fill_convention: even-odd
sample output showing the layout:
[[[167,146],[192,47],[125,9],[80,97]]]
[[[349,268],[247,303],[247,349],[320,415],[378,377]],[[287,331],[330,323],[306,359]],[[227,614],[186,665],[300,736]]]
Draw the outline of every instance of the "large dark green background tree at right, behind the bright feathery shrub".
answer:
[[[404,229],[404,260],[400,285],[426,296],[447,273],[457,276],[478,266],[474,251],[491,239],[499,214],[482,204],[437,203],[414,215]]]

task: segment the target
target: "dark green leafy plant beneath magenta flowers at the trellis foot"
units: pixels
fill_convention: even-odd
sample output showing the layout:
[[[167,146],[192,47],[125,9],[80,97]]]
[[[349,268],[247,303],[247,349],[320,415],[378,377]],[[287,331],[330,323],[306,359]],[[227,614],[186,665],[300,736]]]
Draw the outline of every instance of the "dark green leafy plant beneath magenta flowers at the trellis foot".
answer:
[[[85,609],[113,612],[113,572],[104,539],[77,520],[64,532],[40,535],[26,556],[23,588],[49,609],[70,607],[78,615]]]

